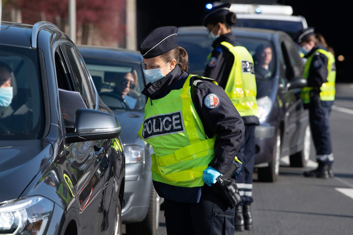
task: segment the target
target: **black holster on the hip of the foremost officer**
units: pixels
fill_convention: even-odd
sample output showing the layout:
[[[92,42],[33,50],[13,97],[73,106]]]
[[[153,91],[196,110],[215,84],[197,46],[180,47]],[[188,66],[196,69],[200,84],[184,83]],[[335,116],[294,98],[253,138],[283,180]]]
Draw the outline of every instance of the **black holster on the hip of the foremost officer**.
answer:
[[[234,172],[238,168],[235,161],[233,161],[228,171],[224,175],[221,174],[216,179],[217,182],[215,184],[211,184],[212,190],[225,200],[229,208],[233,208],[241,202],[240,193],[233,178]]]

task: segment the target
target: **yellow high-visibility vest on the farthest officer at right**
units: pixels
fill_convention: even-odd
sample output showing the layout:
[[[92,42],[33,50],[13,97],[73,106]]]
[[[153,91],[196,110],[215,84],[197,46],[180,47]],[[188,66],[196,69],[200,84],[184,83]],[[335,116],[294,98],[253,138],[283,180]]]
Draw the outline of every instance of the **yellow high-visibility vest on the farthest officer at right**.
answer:
[[[326,51],[324,49],[315,50],[315,52],[311,56],[309,56],[307,59],[307,62],[305,64],[303,77],[305,79],[309,78],[309,72],[310,72],[312,58],[315,56],[316,52],[319,52],[328,58],[327,82],[323,83],[322,86],[320,87],[320,100],[322,100],[322,101],[335,100],[336,64],[335,64],[335,57],[331,52]],[[301,99],[303,100],[304,104],[310,103],[310,91],[312,89],[313,89],[313,87],[304,87],[301,90]]]

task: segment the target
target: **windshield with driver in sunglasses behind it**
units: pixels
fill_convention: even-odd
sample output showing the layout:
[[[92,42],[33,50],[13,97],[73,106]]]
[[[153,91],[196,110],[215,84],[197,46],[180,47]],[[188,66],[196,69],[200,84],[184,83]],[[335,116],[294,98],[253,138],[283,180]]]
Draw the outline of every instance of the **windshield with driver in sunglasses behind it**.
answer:
[[[143,109],[146,97],[141,94],[145,87],[142,66],[133,62],[109,64],[85,58],[98,94],[110,109]],[[127,107],[127,108],[126,108]]]

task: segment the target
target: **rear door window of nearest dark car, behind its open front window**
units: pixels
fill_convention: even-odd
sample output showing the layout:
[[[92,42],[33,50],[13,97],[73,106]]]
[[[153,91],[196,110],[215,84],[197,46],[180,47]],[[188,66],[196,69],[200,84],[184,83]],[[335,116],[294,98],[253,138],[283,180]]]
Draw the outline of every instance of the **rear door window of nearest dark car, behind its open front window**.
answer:
[[[81,94],[83,101],[89,109],[93,108],[91,95],[89,94],[89,87],[85,82],[84,73],[81,66],[79,65],[79,60],[75,55],[74,49],[68,45],[63,45],[62,48],[67,56],[68,64],[71,68],[71,73],[73,80],[76,85],[77,91]]]

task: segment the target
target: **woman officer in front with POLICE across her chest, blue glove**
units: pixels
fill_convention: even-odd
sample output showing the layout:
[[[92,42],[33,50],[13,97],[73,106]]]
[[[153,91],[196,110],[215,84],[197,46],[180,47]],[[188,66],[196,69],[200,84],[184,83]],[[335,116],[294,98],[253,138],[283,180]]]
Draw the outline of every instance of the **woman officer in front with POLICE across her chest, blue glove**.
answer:
[[[139,44],[149,82],[139,135],[155,152],[152,179],[165,199],[167,233],[232,234],[234,210],[209,186],[232,164],[243,120],[215,81],[185,72],[188,56],[177,31],[157,28]]]

